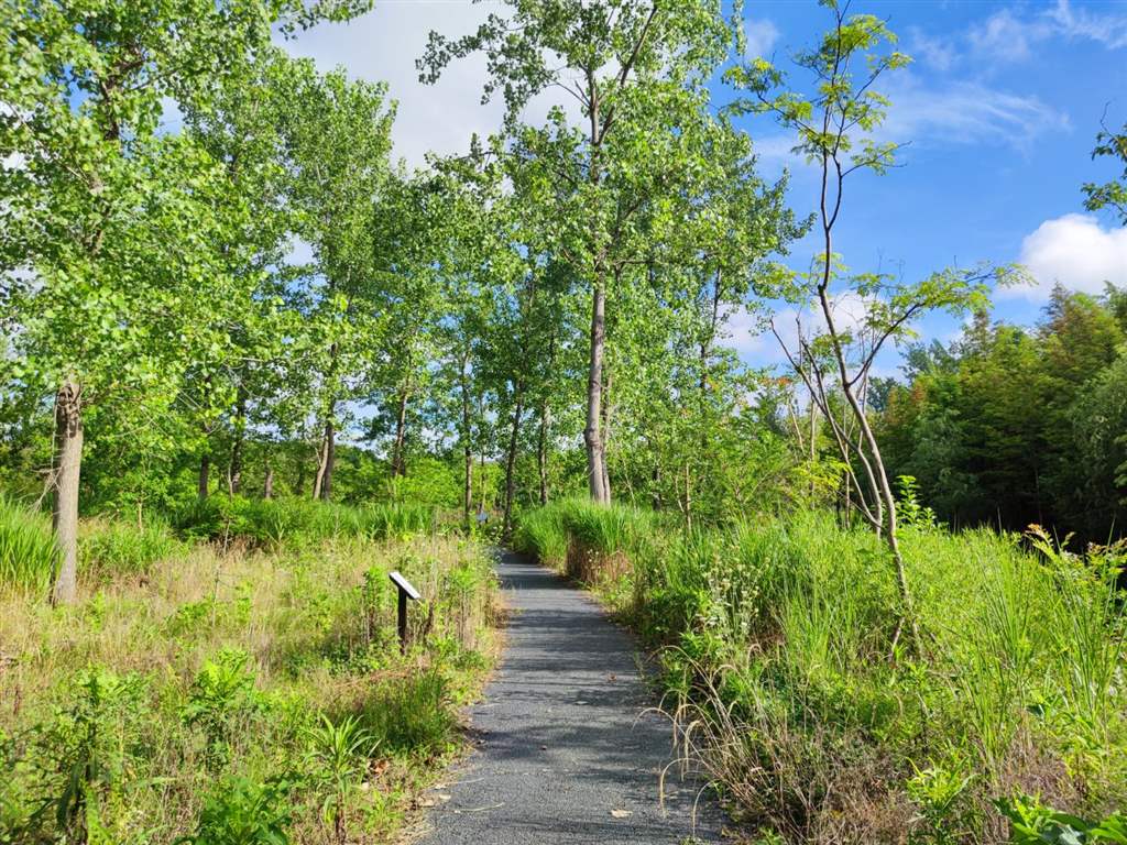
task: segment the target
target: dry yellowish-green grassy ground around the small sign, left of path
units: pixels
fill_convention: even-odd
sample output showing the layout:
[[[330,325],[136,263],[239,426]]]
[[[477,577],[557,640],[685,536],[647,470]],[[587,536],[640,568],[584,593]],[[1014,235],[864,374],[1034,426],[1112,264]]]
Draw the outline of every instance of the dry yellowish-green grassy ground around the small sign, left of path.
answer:
[[[36,578],[0,587],[0,840],[393,837],[488,668],[482,548],[228,540],[91,521],[78,605],[50,608]],[[432,599],[406,657],[390,569]]]

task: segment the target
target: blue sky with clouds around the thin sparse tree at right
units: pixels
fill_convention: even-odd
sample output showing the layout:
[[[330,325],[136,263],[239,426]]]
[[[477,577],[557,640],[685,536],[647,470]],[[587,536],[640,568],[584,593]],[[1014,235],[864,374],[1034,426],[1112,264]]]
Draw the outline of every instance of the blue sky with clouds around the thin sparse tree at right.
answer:
[[[748,3],[748,50],[792,66],[829,16],[813,3]],[[899,35],[912,65],[889,75],[885,136],[908,142],[904,167],[848,185],[838,249],[855,270],[919,278],[949,265],[1023,261],[1036,288],[995,296],[995,315],[1038,318],[1048,288],[1127,283],[1127,231],[1085,215],[1080,186],[1117,174],[1091,150],[1100,121],[1127,123],[1127,2],[857,2]],[[796,75],[796,81],[799,77]],[[724,96],[720,90],[717,96]],[[748,121],[766,171],[789,166],[792,205],[813,207],[815,172],[786,154],[788,136]],[[814,244],[800,244],[801,265]],[[807,259],[808,260],[808,259]],[[924,337],[958,323],[932,318]],[[774,358],[770,345],[748,357]],[[885,356],[885,368],[895,368]]]

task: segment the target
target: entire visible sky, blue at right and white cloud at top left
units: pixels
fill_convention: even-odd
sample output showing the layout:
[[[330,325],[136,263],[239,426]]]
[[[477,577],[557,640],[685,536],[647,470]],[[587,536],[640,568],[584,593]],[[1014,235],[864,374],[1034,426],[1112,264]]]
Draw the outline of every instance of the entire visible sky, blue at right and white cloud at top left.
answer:
[[[418,83],[414,65],[431,29],[469,32],[498,8],[488,0],[378,0],[367,16],[320,26],[287,47],[323,69],[344,65],[354,77],[388,81],[399,101],[396,153],[420,164],[428,150],[463,151],[472,133],[499,125],[499,104],[479,104],[483,61],[456,63],[433,87]],[[1109,125],[1127,122],[1127,0],[853,0],[852,10],[888,19],[914,62],[885,84],[893,108],[884,135],[909,142],[904,167],[849,185],[837,241],[846,264],[913,279],[956,264],[1024,261],[1039,286],[997,295],[995,315],[1026,323],[1056,281],[1092,292],[1104,278],[1127,285],[1127,229],[1085,214],[1080,190],[1117,175],[1090,153],[1104,110]],[[749,52],[781,66],[831,23],[814,0],[746,0],[745,17]],[[718,101],[727,96],[716,94]],[[527,118],[548,105],[534,103]],[[811,211],[814,172],[789,154],[790,137],[766,118],[747,118],[746,128],[763,171],[790,167],[791,204]],[[806,267],[815,250],[798,244],[791,264]],[[779,363],[774,339],[751,326],[734,320],[730,343],[749,363]],[[935,317],[921,328],[924,338],[950,340],[959,326]],[[884,356],[880,370],[895,372],[896,357]]]

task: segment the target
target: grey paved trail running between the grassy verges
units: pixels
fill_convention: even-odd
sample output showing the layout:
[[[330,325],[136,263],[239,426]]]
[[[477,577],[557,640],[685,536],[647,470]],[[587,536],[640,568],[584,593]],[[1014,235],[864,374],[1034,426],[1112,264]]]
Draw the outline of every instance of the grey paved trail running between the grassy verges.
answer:
[[[631,639],[547,569],[503,552],[498,571],[512,611],[507,648],[471,711],[479,748],[434,791],[425,845],[687,839],[696,789],[671,774],[658,806],[669,727],[639,718],[653,702]],[[720,842],[716,812],[701,803],[695,836]]]

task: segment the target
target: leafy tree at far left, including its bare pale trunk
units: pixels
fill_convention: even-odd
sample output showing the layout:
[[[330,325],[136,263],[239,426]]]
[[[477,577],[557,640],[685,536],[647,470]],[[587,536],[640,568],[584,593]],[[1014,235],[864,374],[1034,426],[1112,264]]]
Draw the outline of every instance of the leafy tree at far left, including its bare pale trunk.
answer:
[[[161,132],[166,98],[207,104],[275,23],[317,15],[224,0],[2,6],[0,155],[18,164],[0,169],[0,269],[15,288],[5,305],[28,314],[11,375],[55,397],[57,602],[76,592],[86,409],[113,393],[167,399],[199,347],[223,343],[206,312],[230,299],[213,247],[229,186],[205,150]]]

